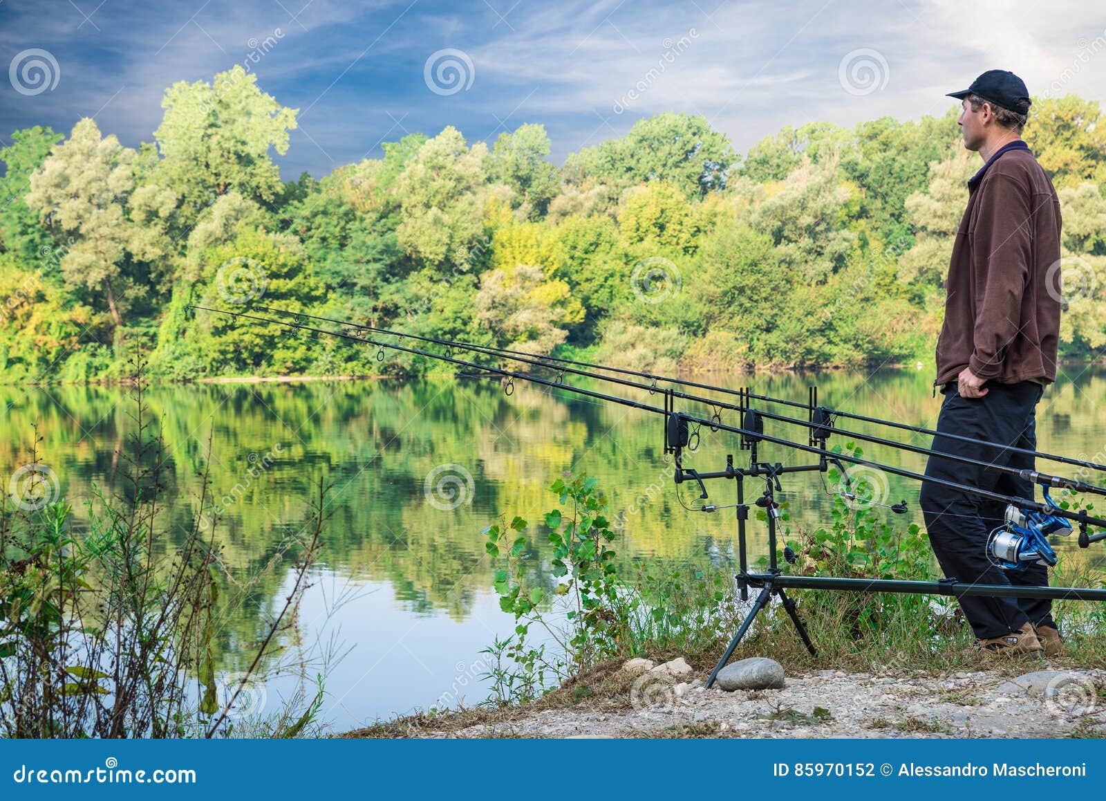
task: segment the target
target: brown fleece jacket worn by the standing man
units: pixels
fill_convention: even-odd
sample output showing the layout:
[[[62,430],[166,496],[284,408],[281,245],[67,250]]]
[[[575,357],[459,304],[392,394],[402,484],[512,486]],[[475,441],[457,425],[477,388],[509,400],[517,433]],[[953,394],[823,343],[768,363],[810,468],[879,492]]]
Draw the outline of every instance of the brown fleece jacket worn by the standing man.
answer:
[[[952,246],[936,383],[956,381],[964,367],[1000,384],[1055,381],[1060,199],[1021,143],[980,173],[968,183]]]

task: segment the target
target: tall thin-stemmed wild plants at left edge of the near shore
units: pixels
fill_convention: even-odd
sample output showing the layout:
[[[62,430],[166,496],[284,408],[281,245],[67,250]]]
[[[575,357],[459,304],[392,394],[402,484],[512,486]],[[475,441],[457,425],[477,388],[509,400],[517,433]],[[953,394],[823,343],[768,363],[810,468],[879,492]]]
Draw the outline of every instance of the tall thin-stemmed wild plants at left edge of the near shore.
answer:
[[[320,548],[325,488],[298,551],[294,583],[247,658],[244,673],[220,697],[216,646],[221,635],[223,575],[207,474],[184,537],[160,524],[165,444],[144,400],[145,362],[134,363],[135,430],[122,455],[118,497],[94,489],[86,531],[74,531],[72,507],[50,490],[0,504],[0,736],[34,738],[176,738],[237,734],[232,718],[243,688],[263,680],[262,662],[294,623]],[[35,431],[31,459],[38,465]],[[209,445],[210,448],[210,445]],[[182,527],[184,528],[184,527]],[[292,548],[292,543],[289,544]],[[322,676],[309,700],[300,694],[257,734],[294,737],[315,725]]]

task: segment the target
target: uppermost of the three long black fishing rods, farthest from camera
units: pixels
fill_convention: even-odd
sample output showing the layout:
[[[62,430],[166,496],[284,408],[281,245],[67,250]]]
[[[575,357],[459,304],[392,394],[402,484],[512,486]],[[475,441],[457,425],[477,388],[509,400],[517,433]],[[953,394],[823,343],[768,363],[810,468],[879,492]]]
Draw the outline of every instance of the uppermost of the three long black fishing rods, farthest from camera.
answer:
[[[260,305],[260,304],[255,304],[253,308],[261,309],[261,310],[264,310],[264,311],[268,311],[268,312],[273,312],[273,313],[279,313],[279,314],[288,314],[288,315],[292,315],[292,316],[295,316],[295,318],[302,318],[302,319],[305,319],[305,320],[306,319],[310,319],[310,320],[322,320],[322,321],[325,321],[325,322],[334,323],[336,325],[342,325],[342,326],[348,329],[351,332],[356,332],[356,331],[361,331],[361,332],[375,332],[375,333],[390,335],[390,336],[398,336],[398,337],[404,337],[404,339],[411,339],[411,340],[417,340],[417,341],[420,341],[420,342],[427,342],[427,343],[431,343],[431,344],[442,345],[442,346],[449,347],[449,349],[455,349],[456,347],[456,349],[461,349],[461,350],[469,350],[469,351],[473,351],[473,352],[478,352],[478,353],[484,353],[484,354],[488,354],[488,355],[500,356],[500,357],[503,357],[503,358],[508,358],[508,357],[511,357],[511,356],[529,357],[529,360],[533,360],[531,362],[532,364],[535,364],[535,365],[542,366],[542,367],[547,367],[550,370],[559,370],[560,371],[562,368],[559,367],[559,366],[556,366],[557,364],[571,364],[571,365],[575,365],[577,367],[587,367],[587,368],[591,368],[591,370],[603,370],[603,371],[607,371],[607,372],[612,372],[612,373],[619,373],[619,374],[623,374],[623,375],[632,375],[632,376],[636,376],[636,377],[640,377],[640,378],[648,378],[651,382],[651,384],[650,384],[650,388],[651,389],[659,388],[659,387],[656,386],[657,382],[665,382],[665,383],[669,383],[669,384],[676,384],[676,385],[679,385],[679,386],[690,386],[690,387],[696,387],[696,388],[700,388],[700,389],[707,389],[707,391],[710,391],[710,392],[719,392],[719,393],[730,394],[730,395],[739,395],[740,394],[738,391],[729,388],[729,387],[714,386],[714,385],[711,385],[711,384],[702,384],[700,382],[688,381],[688,379],[685,379],[685,378],[674,378],[674,377],[670,377],[670,376],[655,375],[653,373],[646,373],[646,372],[636,371],[636,370],[627,370],[627,368],[624,368],[624,367],[612,367],[612,366],[608,366],[608,365],[594,364],[594,363],[591,363],[591,362],[582,362],[582,361],[577,361],[577,360],[563,358],[563,357],[559,357],[559,356],[544,355],[544,354],[533,354],[533,353],[528,353],[525,351],[515,351],[515,350],[510,350],[510,349],[501,349],[501,347],[494,347],[494,346],[491,346],[491,345],[477,345],[477,344],[472,344],[472,343],[468,343],[468,342],[460,342],[460,341],[456,341],[456,340],[453,340],[453,341],[441,340],[441,339],[434,337],[434,336],[425,336],[425,335],[421,335],[421,334],[411,334],[411,333],[404,332],[404,331],[396,331],[396,330],[392,330],[392,329],[378,327],[378,326],[375,326],[375,325],[369,325],[367,323],[354,323],[354,322],[349,322],[349,321],[335,320],[333,318],[326,318],[326,316],[321,316],[321,315],[316,315],[316,314],[306,314],[304,312],[292,312],[292,311],[289,311],[289,310],[285,310],[285,309],[275,309],[275,308],[272,308],[272,306],[264,306],[264,305]],[[555,363],[555,364],[550,364],[550,363]],[[580,371],[568,371],[568,368],[563,368],[563,370],[565,372],[573,372],[573,373],[577,373],[580,375],[586,375],[586,376],[592,377],[592,378],[601,378],[601,379],[605,379],[606,378],[606,379],[608,379],[606,376],[598,376],[598,375],[594,375],[594,374],[591,374],[591,373],[581,373]],[[626,384],[626,385],[627,386],[635,386],[635,387],[639,387],[640,386],[640,385],[637,385],[637,384]],[[690,400],[698,400],[699,403],[703,403],[703,404],[706,404],[708,406],[718,406],[720,408],[728,408],[728,409],[735,409],[735,408],[738,408],[737,406],[734,406],[732,404],[726,404],[724,402],[718,400],[716,398],[702,398],[702,397],[698,397],[698,396],[693,396],[693,395],[688,395],[688,394],[682,394],[682,395],[680,395],[680,397],[684,397],[684,398],[690,399]],[[758,395],[755,393],[747,393],[745,397],[751,398],[753,400],[763,400],[765,403],[772,403],[772,404],[783,405],[783,406],[787,406],[787,407],[792,407],[792,408],[808,409],[808,407],[810,407],[810,404],[802,404],[802,403],[800,403],[797,400],[789,400],[786,398],[776,398],[776,397],[772,397],[772,396],[769,396],[769,395]],[[761,414],[763,414],[765,416],[770,416],[770,413],[766,413],[766,412],[761,413]],[[1025,455],[1025,456],[1033,456],[1033,457],[1045,459],[1045,460],[1048,460],[1048,461],[1056,461],[1056,462],[1060,462],[1060,464],[1072,465],[1072,466],[1075,466],[1075,467],[1082,467],[1082,468],[1092,469],[1092,470],[1106,471],[1106,464],[1102,464],[1100,465],[1100,464],[1093,462],[1093,461],[1086,461],[1086,460],[1081,460],[1081,459],[1073,459],[1073,458],[1067,457],[1067,456],[1060,456],[1060,455],[1055,455],[1055,454],[1047,454],[1047,452],[1041,451],[1041,450],[1031,450],[1031,449],[1027,449],[1027,448],[1019,448],[1016,446],[1011,446],[1011,445],[1001,445],[1001,444],[998,444],[998,443],[990,443],[990,441],[987,441],[984,439],[978,439],[978,438],[974,438],[974,437],[968,437],[968,436],[963,436],[963,435],[959,435],[959,434],[949,434],[949,433],[946,433],[946,431],[937,431],[937,430],[933,430],[933,429],[930,429],[930,428],[924,428],[924,427],[920,427],[920,426],[910,426],[908,424],[898,423],[898,422],[895,422],[895,420],[885,420],[885,419],[880,419],[878,417],[869,417],[869,416],[866,416],[866,415],[857,415],[857,414],[853,414],[853,413],[849,413],[849,412],[843,412],[841,409],[834,409],[834,408],[831,408],[831,407],[827,407],[827,406],[820,407],[820,413],[818,414],[820,414],[820,416],[822,416],[824,418],[823,423],[814,423],[813,420],[810,422],[810,423],[806,423],[806,422],[803,422],[803,420],[795,420],[794,418],[786,418],[786,417],[773,417],[773,419],[779,419],[781,422],[797,423],[799,425],[814,427],[814,426],[821,426],[821,425],[825,425],[825,424],[832,424],[834,422],[834,418],[836,418],[836,417],[844,417],[844,418],[847,418],[847,419],[855,419],[857,422],[870,423],[870,424],[874,424],[874,425],[889,426],[889,427],[893,427],[893,428],[897,428],[897,429],[901,429],[901,430],[908,430],[908,431],[912,431],[912,433],[916,433],[916,434],[928,434],[928,435],[933,435],[933,436],[941,436],[941,437],[946,437],[948,439],[953,439],[953,440],[957,440],[957,441],[963,441],[963,443],[970,443],[970,444],[973,444],[973,445],[985,446],[989,449],[994,449],[994,450],[999,450],[999,451],[1003,451],[1003,452],[1008,452],[1009,451],[1011,454],[1022,454],[1022,455]],[[927,455],[939,454],[940,456],[943,456],[943,457],[947,457],[947,458],[950,458],[950,459],[953,459],[953,460],[964,461],[963,458],[957,457],[957,456],[954,456],[952,454],[945,454],[942,451],[935,451],[935,450],[929,449],[929,448],[920,448],[920,446],[912,446],[912,445],[909,445],[909,444],[906,444],[906,443],[899,443],[898,440],[880,439],[880,438],[873,437],[872,435],[866,435],[866,434],[863,434],[860,431],[854,431],[854,430],[851,430],[851,429],[839,428],[839,427],[836,427],[836,426],[834,427],[834,430],[838,431],[839,434],[846,435],[848,437],[855,437],[857,439],[863,439],[865,441],[870,441],[870,443],[874,443],[874,444],[890,445],[893,447],[901,447],[904,449],[912,450],[914,452],[918,452],[918,454],[927,454]],[[968,460],[968,461],[970,462],[971,460]],[[975,464],[979,464],[979,462],[975,462]],[[992,467],[994,469],[1000,469],[999,466],[991,465],[990,462],[988,462],[988,467]],[[1011,469],[1013,469],[1013,468],[1011,468]],[[1015,472],[1021,472],[1021,471],[1018,471],[1015,469]],[[1029,471],[1029,472],[1032,472],[1032,471]],[[1062,479],[1061,480],[1062,482],[1058,482],[1058,483],[1045,483],[1046,480],[1054,479],[1054,478],[1058,479],[1058,477],[1048,476],[1046,474],[1035,474],[1034,478],[1029,478],[1027,475],[1026,476],[1019,476],[1019,477],[1020,478],[1026,478],[1027,480],[1032,480],[1035,483],[1042,483],[1042,486],[1064,487],[1064,488],[1071,489],[1071,490],[1076,491],[1076,492],[1093,492],[1093,493],[1096,493],[1096,495],[1106,495],[1106,488],[1098,487],[1098,486],[1091,485],[1091,483],[1086,483],[1086,482],[1082,482],[1082,481],[1076,481],[1075,479]]]

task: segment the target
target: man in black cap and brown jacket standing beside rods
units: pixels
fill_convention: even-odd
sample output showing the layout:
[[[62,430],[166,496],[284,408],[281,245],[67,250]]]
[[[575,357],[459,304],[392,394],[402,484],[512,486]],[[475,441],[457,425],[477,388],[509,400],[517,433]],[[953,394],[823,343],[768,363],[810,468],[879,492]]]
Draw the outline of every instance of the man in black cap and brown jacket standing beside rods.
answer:
[[[1025,84],[989,70],[962,92],[957,123],[964,147],[983,166],[968,181],[946,282],[945,324],[937,340],[937,381],[945,395],[933,450],[1032,469],[1033,457],[951,439],[960,435],[1036,449],[1035,408],[1056,378],[1060,336],[1060,199],[1022,141],[1031,101]],[[1032,499],[1032,482],[984,467],[930,456],[926,476]],[[1002,503],[925,482],[921,508],[947,578],[967,584],[1048,584],[1044,565],[1006,572],[988,553],[1004,520]],[[961,597],[981,653],[1064,653],[1052,602]]]

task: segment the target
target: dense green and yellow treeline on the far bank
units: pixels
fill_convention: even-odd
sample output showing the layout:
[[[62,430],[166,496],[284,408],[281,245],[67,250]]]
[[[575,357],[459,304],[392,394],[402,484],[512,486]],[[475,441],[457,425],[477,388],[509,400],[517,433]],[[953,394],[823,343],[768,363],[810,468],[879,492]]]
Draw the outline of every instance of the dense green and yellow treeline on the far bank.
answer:
[[[541,125],[489,147],[447,127],[322,179],[280,179],[296,110],[240,67],[165,94],[153,143],[93,119],[0,149],[0,376],[418,373],[341,343],[186,314],[261,302],[650,370],[931,358],[979,167],[956,110],[787,127],[739,156],[659,114],[550,163]],[[1062,354],[1106,344],[1106,124],[1039,98],[1025,139],[1064,214]]]

